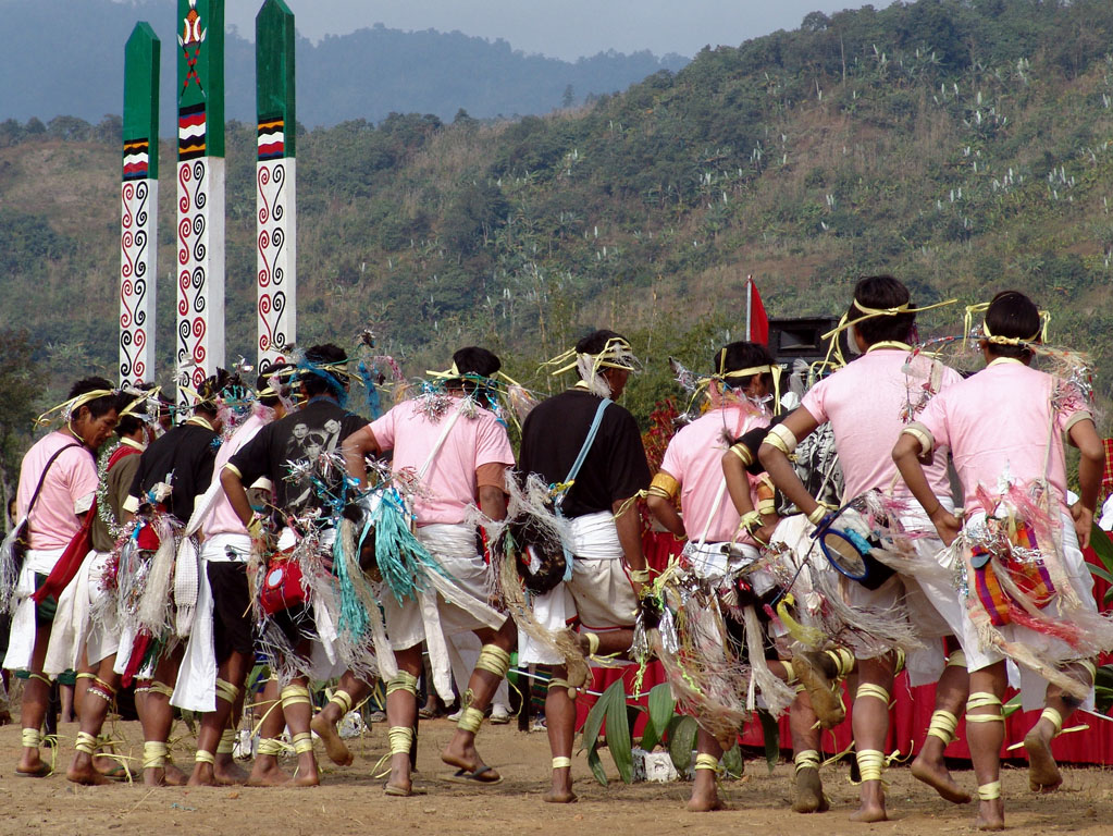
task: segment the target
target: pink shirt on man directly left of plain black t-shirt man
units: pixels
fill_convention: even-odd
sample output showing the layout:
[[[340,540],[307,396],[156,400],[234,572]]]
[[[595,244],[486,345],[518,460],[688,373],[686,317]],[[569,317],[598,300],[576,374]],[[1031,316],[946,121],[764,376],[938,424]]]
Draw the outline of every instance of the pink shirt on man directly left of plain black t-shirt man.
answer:
[[[452,419],[450,409],[440,421],[425,413],[420,401],[406,401],[371,424],[378,449],[394,451],[392,469],[417,472],[424,466],[444,429]],[[484,464],[514,464],[514,451],[506,430],[487,410],[476,407],[474,415],[456,419],[444,444],[422,480],[426,496],[414,499],[418,525],[457,524],[464,509],[475,502],[475,471]]]

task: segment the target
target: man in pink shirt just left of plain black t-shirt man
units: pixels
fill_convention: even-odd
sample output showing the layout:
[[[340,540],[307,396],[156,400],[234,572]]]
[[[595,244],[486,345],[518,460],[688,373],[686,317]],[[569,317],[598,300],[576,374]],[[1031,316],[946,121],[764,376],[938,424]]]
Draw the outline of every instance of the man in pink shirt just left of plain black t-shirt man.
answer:
[[[386,688],[391,738],[391,777],[386,794],[412,793],[410,747],[417,712],[421,647],[429,647],[433,685],[446,702],[452,699],[452,672],[444,637],[472,631],[483,642],[479,661],[463,695],[456,734],[441,754],[457,767],[455,777],[473,784],[496,784],[501,776],[483,763],[475,734],[499,681],[510,667],[516,641],[512,619],[487,606],[487,570],[476,548],[476,530],[469,508],[479,505],[491,520],[506,515],[504,493],[514,453],[505,427],[482,403],[484,384],[502,363],[480,347],[452,355],[443,392],[398,404],[344,443],[348,472],[366,482],[364,456],[394,451],[392,470],[416,480],[414,515],[417,539],[440,561],[459,594],[449,598],[430,590],[416,599],[382,600],[386,631],[398,665],[398,676]]]

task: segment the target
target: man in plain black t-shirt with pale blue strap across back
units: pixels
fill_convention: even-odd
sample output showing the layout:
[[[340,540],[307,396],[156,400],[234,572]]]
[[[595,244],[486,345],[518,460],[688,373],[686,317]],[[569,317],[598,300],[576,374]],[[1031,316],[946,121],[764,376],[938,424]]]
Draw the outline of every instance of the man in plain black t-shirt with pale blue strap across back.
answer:
[[[597,331],[565,355],[580,381],[539,404],[522,427],[519,469],[551,485],[571,482],[556,502],[571,520],[572,578],[535,599],[533,616],[552,631],[575,621],[587,656],[623,655],[633,639],[638,596],[649,580],[641,551],[641,520],[634,498],[650,473],[633,416],[615,403],[637,361],[630,344],[613,331]],[[602,413],[600,414],[600,409]],[[579,473],[569,480],[592,424],[599,427]],[[570,606],[571,602],[571,606]],[[572,793],[571,755],[575,706],[571,694],[583,685],[587,667],[570,676],[568,666],[545,649],[523,641],[522,663],[552,668],[545,719],[552,747],[552,789],[546,801],[567,804]],[[579,667],[579,666],[578,666]]]

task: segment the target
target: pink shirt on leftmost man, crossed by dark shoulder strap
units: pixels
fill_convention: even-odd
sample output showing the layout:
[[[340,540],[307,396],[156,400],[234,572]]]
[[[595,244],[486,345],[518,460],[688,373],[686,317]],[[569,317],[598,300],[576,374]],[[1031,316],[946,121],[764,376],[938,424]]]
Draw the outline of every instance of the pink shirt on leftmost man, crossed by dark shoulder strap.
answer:
[[[35,443],[19,470],[16,509],[20,519],[27,513],[42,469],[62,447],[77,444],[59,455],[50,465],[42,491],[31,514],[32,549],[65,549],[81,528],[78,514],[92,506],[97,495],[97,461],[85,444],[62,432],[52,432]]]

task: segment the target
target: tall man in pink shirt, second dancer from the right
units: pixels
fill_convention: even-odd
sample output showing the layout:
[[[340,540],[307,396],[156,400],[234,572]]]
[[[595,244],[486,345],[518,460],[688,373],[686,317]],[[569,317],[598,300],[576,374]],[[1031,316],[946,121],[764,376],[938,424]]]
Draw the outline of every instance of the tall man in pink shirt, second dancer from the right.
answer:
[[[910,498],[899,482],[895,465],[879,455],[879,451],[895,441],[906,422],[922,411],[935,393],[958,381],[953,370],[927,357],[909,360],[913,350],[908,341],[913,338],[915,319],[908,289],[895,278],[870,276],[859,281],[846,321],[853,328],[853,340],[861,356],[812,386],[800,407],[770,431],[759,455],[774,483],[818,525],[827,509],[819,505],[804,488],[788,455],[798,440],[820,424],[830,422],[845,480],[843,502],[876,492],[875,495],[881,498],[880,502],[894,509],[893,515],[899,519],[897,527],[915,535],[913,567],[916,578],[893,574],[879,584],[869,582],[873,588],[843,579],[844,598],[851,607],[868,609],[873,614],[892,613],[895,618],[905,618],[902,600],[906,588],[909,592],[923,589],[930,602],[930,609],[925,608],[926,612],[932,614],[934,609],[942,616],[942,619],[933,617],[938,623],[930,632],[942,636],[961,630],[962,614],[954,590],[948,589],[945,581],[936,580],[934,587],[929,581],[929,578],[946,577],[933,557],[939,550],[939,543],[934,538],[924,537],[932,531],[928,520],[900,511]],[[933,465],[928,479],[934,495],[942,504],[951,506],[944,458],[940,456]],[[919,583],[917,579],[922,579]],[[918,619],[916,626],[919,627]],[[860,650],[856,655],[858,689],[854,701],[854,739],[863,783],[860,806],[851,819],[879,822],[886,818],[881,784],[885,756],[881,747],[888,730],[888,704],[897,657],[892,652],[866,657]],[[929,736],[929,745],[917,759],[914,774],[935,787],[947,800],[961,804],[968,801],[969,796],[951,778],[943,761],[943,749],[949,742],[948,738],[954,732],[953,722],[957,721],[954,718],[966,699],[967,681],[965,668],[958,663],[959,657],[953,655],[951,661],[937,687],[933,727],[938,727],[938,731]],[[807,682],[805,673],[797,670],[797,675]],[[818,708],[821,704],[816,705]],[[948,724],[947,728],[939,726],[944,722]]]

